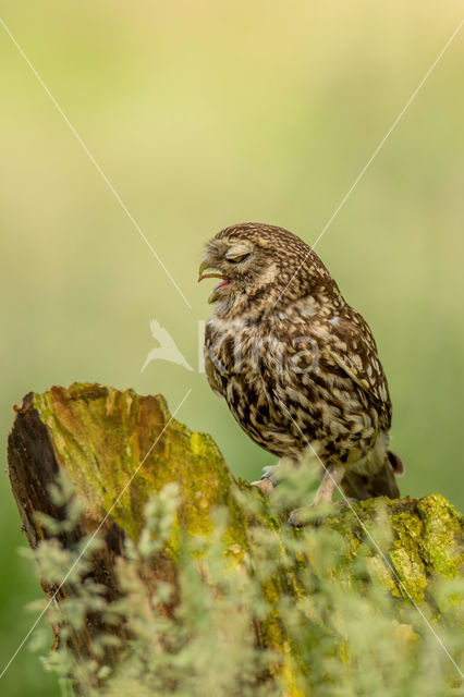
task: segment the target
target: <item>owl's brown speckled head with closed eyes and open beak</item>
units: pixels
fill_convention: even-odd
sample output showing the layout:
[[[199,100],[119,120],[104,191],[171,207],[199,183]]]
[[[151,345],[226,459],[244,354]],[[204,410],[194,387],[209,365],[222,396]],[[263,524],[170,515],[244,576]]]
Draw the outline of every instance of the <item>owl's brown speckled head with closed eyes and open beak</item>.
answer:
[[[208,242],[198,281],[220,279],[208,303],[218,302],[220,311],[243,310],[272,307],[307,294],[312,279],[320,280],[321,270],[328,274],[310,247],[288,230],[241,223],[221,230]]]

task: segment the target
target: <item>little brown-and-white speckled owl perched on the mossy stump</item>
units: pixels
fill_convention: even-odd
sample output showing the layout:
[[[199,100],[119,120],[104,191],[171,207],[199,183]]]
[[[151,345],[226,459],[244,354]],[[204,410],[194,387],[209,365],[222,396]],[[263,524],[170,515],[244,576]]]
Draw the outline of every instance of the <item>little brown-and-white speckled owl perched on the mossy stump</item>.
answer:
[[[244,431],[295,464],[310,449],[322,473],[316,503],[338,487],[398,498],[403,464],[389,450],[376,342],[317,254],[282,228],[236,224],[208,243],[198,280],[209,277],[220,282],[208,299],[206,375]],[[276,475],[254,484],[268,493]]]

